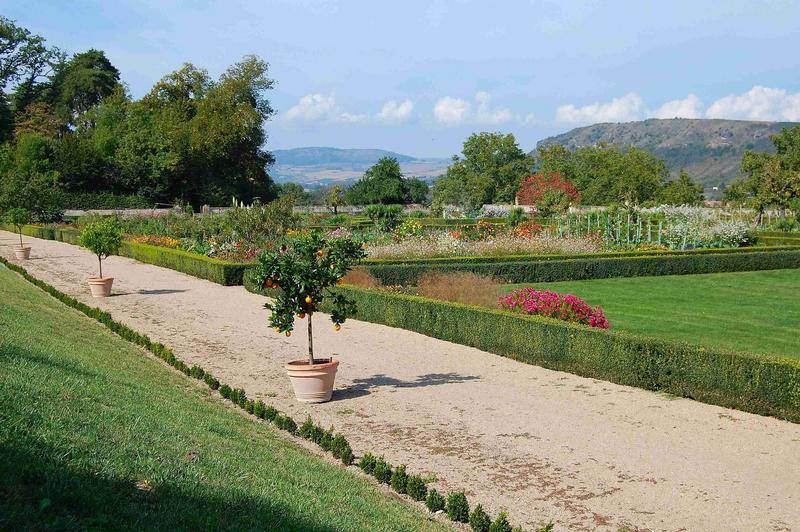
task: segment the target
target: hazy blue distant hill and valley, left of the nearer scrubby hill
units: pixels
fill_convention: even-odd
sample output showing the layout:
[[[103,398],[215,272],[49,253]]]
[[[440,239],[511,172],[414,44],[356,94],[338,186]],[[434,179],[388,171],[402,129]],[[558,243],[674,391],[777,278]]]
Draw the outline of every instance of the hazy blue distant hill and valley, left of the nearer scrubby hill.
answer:
[[[325,147],[274,150],[269,173],[278,183],[292,181],[305,186],[348,184],[361,177],[381,157],[394,157],[406,177],[431,181],[444,173],[449,159],[418,159],[387,150]]]

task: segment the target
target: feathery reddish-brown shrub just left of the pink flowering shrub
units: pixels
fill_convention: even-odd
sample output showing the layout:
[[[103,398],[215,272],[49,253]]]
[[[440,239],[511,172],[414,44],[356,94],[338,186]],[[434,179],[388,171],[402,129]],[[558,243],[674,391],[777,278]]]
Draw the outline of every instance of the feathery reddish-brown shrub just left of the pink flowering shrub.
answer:
[[[497,281],[471,272],[430,271],[417,281],[417,293],[432,299],[493,307],[497,304]]]

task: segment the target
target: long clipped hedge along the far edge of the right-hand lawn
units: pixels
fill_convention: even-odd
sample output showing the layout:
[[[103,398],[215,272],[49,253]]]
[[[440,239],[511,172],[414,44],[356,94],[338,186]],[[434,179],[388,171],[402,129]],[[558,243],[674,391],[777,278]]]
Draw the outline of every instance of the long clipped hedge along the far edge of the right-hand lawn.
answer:
[[[747,249],[747,251],[744,251]],[[703,252],[549,258],[535,260],[448,260],[419,263],[366,263],[360,266],[384,285],[414,285],[426,271],[468,271],[509,283],[577,281],[609,277],[688,275],[800,268],[800,248],[739,248]]]

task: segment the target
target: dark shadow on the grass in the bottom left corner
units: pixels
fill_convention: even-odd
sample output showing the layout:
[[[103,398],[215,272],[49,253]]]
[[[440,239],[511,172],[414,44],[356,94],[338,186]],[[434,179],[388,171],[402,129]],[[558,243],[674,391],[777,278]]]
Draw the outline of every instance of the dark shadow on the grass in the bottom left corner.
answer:
[[[64,454],[33,438],[0,443],[0,530],[334,530],[267,497],[108,477]]]

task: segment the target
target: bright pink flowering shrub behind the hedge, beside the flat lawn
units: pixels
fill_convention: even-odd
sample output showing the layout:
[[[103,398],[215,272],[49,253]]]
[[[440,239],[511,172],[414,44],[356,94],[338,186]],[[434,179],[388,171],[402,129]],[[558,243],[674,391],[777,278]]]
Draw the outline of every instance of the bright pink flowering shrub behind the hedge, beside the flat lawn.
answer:
[[[557,294],[550,290],[520,288],[501,296],[501,309],[556,318],[573,323],[582,323],[589,327],[608,329],[608,320],[599,306],[590,307],[583,299],[571,294]]]

